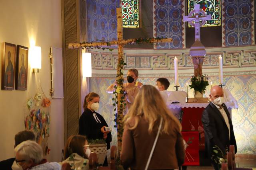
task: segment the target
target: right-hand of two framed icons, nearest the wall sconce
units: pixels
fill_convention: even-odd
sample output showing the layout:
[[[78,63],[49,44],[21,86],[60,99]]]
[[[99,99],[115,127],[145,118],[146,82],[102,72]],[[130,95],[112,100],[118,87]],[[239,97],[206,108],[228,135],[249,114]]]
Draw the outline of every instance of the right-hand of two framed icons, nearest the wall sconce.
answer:
[[[16,90],[27,90],[28,47],[17,45]]]

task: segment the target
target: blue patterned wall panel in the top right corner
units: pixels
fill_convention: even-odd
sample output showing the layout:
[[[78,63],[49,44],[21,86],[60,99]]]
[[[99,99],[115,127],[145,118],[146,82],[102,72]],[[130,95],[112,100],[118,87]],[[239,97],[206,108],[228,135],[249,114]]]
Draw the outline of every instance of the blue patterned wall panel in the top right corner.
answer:
[[[223,45],[238,46],[254,44],[254,11],[252,0],[223,1]]]

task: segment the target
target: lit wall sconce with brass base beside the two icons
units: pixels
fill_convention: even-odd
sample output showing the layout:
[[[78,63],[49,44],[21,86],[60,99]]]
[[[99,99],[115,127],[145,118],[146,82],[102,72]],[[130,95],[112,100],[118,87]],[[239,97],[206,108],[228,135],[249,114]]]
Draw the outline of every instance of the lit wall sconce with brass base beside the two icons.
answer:
[[[41,47],[30,47],[30,66],[32,68],[32,72],[39,72],[41,69]]]

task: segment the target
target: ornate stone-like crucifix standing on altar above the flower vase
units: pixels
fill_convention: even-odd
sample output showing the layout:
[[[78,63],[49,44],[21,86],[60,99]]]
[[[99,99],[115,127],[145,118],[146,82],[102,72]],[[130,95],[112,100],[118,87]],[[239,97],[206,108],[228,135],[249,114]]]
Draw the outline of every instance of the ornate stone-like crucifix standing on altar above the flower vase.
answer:
[[[202,64],[204,63],[204,56],[206,55],[204,45],[200,42],[200,27],[202,27],[207,20],[211,20],[211,18],[211,15],[206,15],[206,13],[200,9],[200,4],[196,4],[194,10],[183,18],[183,21],[188,21],[190,25],[195,27],[195,42],[190,47],[189,51],[189,55],[192,56],[194,63],[195,76],[202,76]]]

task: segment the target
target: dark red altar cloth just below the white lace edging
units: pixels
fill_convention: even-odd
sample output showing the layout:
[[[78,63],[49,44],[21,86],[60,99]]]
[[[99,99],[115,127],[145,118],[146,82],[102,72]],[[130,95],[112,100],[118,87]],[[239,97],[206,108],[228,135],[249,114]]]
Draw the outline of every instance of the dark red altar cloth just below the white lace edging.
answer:
[[[204,108],[182,108],[182,131],[198,131],[200,134],[199,150],[204,151],[204,127],[201,121]],[[198,133],[197,132],[197,133]]]

